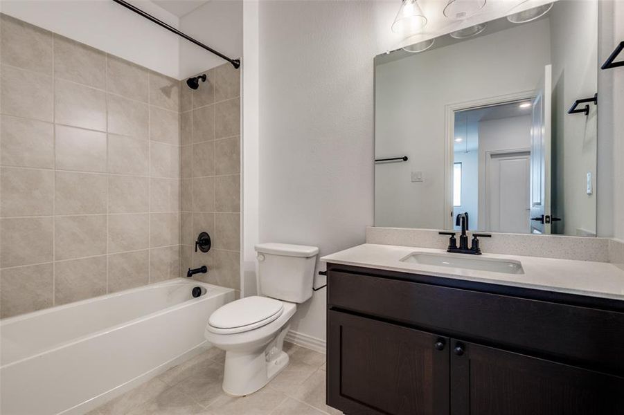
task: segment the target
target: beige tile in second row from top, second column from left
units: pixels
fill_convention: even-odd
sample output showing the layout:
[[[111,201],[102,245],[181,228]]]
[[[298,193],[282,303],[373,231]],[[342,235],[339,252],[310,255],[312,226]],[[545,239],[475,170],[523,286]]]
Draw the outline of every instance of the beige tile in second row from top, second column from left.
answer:
[[[106,131],[106,94],[89,86],[56,80],[54,120],[73,127]]]

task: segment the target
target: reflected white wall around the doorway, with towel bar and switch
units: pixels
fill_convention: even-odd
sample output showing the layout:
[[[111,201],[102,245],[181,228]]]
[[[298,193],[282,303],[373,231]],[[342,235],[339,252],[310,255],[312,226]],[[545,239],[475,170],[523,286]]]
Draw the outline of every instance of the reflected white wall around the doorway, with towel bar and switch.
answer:
[[[375,225],[444,228],[445,106],[531,91],[548,63],[543,19],[377,66],[375,155],[409,161],[377,165]]]

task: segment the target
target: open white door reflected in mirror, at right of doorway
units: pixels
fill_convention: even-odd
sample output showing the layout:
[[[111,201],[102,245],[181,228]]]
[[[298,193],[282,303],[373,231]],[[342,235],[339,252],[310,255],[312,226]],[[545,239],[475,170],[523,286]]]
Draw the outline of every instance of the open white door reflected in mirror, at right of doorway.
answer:
[[[551,233],[552,66],[535,89],[531,123],[531,233]]]

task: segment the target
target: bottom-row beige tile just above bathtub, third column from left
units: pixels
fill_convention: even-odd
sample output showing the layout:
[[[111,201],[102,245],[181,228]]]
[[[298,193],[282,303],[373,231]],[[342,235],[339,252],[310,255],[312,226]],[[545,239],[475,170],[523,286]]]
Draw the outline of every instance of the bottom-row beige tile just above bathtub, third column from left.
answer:
[[[127,290],[148,284],[150,251],[124,252],[108,256],[108,292]]]

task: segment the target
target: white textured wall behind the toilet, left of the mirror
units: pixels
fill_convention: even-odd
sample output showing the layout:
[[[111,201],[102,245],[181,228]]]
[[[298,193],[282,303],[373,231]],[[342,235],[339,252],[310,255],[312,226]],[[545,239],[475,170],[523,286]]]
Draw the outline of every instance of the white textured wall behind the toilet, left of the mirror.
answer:
[[[319,246],[326,255],[365,241],[373,223],[373,56],[381,37],[375,6],[260,3],[262,242]],[[316,285],[324,283],[317,276]],[[325,290],[298,306],[291,329],[326,338]]]

